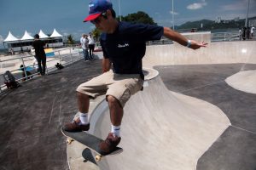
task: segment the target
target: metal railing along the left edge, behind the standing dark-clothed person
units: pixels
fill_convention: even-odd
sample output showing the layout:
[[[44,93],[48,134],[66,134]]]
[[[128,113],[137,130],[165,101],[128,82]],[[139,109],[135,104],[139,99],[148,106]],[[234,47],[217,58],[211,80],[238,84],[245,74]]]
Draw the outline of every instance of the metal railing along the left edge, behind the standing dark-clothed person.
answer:
[[[79,59],[83,59],[82,49],[77,46],[73,48],[61,48],[54,51],[54,56],[47,57],[46,60],[46,74],[50,71],[55,71],[57,68],[55,65],[60,63],[61,65],[70,65]],[[38,77],[38,63],[33,55],[23,54],[16,56],[9,56],[10,59],[0,59],[0,93],[6,89],[6,85],[3,83],[3,74],[5,71],[10,71],[17,82],[26,82],[32,78]],[[26,71],[29,71],[31,75],[27,75],[26,71],[22,71],[22,67]],[[22,73],[24,75],[22,75]]]

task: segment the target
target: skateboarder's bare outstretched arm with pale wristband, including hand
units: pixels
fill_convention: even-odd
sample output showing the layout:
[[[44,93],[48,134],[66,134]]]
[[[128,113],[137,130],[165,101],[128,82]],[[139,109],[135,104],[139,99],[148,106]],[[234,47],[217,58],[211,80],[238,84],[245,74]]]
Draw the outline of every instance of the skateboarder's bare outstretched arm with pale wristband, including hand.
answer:
[[[207,43],[205,43],[205,42],[200,43],[200,42],[196,42],[195,40],[190,40],[190,42],[189,42],[189,40],[186,37],[183,37],[183,35],[181,35],[177,31],[173,31],[169,27],[164,27],[164,36],[175,41],[175,42],[178,42],[179,44],[181,44],[183,46],[187,46],[188,43],[190,43],[189,48],[192,48],[192,49],[207,47]]]

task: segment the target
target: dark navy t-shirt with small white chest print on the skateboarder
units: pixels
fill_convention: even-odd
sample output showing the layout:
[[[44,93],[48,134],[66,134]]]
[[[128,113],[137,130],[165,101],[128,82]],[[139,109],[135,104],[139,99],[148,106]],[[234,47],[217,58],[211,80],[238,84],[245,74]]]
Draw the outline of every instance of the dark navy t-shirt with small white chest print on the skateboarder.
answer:
[[[146,41],[160,40],[163,32],[162,26],[119,22],[113,34],[101,35],[103,55],[113,63],[115,73],[143,75]]]

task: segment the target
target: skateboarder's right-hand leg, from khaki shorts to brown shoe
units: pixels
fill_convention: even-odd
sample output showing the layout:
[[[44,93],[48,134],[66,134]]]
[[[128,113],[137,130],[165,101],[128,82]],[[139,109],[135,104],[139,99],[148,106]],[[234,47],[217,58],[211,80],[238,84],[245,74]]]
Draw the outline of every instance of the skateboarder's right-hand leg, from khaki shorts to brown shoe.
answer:
[[[143,87],[143,80],[139,76],[116,75],[115,79],[117,82],[108,86],[107,100],[112,125],[111,133],[108,133],[107,139],[99,145],[102,154],[112,152],[119,144],[125,103],[130,99],[132,94],[136,94]]]

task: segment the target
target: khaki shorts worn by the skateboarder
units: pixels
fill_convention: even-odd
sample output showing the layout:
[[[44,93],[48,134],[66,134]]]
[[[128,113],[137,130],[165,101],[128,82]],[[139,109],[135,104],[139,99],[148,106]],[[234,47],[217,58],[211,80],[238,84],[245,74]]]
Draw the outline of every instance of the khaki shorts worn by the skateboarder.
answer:
[[[91,99],[106,94],[119,100],[123,107],[130,99],[143,88],[143,79],[138,74],[116,74],[112,70],[79,85],[77,91],[87,94]]]

